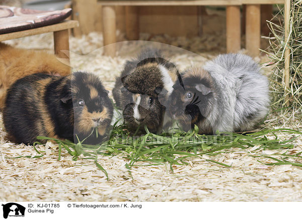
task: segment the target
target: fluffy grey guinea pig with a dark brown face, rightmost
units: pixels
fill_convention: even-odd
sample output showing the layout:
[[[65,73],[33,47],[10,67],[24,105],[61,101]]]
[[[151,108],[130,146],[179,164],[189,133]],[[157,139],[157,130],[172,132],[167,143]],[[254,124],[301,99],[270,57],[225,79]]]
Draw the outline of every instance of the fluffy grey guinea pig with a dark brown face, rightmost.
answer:
[[[182,85],[173,86],[168,112],[184,130],[197,125],[200,134],[250,131],[268,114],[268,80],[249,56],[220,54],[181,77]]]

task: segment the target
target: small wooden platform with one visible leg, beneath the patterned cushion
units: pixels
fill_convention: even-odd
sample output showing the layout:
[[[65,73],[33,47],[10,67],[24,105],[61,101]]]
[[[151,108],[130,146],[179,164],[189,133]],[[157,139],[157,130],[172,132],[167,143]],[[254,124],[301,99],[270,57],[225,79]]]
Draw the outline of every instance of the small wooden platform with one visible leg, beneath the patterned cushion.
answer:
[[[66,51],[62,52],[63,50],[69,51],[68,29],[78,26],[78,21],[67,20],[57,24],[47,25],[39,28],[17,31],[8,34],[0,34],[0,41],[53,32],[55,54],[60,58],[69,59],[69,54],[66,54]]]

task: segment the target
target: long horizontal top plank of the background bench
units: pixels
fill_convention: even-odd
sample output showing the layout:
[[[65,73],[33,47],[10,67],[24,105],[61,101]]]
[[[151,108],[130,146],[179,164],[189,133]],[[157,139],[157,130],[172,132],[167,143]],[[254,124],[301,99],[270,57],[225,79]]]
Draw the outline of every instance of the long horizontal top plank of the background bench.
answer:
[[[187,1],[99,1],[104,6],[228,6],[242,4],[284,4],[284,0],[187,0]]]

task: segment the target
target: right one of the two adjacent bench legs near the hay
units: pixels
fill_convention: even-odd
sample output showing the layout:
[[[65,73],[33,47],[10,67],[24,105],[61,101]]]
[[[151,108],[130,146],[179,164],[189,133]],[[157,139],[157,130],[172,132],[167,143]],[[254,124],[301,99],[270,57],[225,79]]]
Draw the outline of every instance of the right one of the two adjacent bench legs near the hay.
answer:
[[[260,5],[247,5],[246,49],[252,57],[260,53],[260,25]]]

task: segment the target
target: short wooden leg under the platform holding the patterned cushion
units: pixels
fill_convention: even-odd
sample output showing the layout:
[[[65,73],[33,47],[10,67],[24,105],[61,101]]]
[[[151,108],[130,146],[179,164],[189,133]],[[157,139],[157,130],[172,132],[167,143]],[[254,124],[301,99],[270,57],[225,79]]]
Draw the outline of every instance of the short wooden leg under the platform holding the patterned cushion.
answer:
[[[69,65],[69,32],[68,29],[53,32],[54,53],[58,58],[66,59]]]

